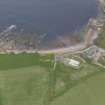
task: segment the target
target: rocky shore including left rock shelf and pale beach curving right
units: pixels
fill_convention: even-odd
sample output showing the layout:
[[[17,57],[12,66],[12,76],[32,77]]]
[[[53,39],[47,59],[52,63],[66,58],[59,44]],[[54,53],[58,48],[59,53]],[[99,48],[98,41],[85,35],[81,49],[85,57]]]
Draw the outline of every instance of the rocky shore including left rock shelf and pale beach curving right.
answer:
[[[86,48],[87,46],[94,43],[94,40],[98,37],[98,35],[101,33],[104,23],[105,23],[105,0],[98,0],[98,7],[100,9],[100,13],[96,18],[91,18],[86,26],[86,31],[82,33],[81,36],[83,36],[83,40],[79,40],[75,42],[74,39],[72,39],[74,43],[73,46],[69,46],[69,40],[68,44],[65,43],[65,40],[60,40],[62,43],[60,43],[60,47],[57,46],[55,49],[47,49],[47,50],[41,50],[39,48],[41,40],[46,36],[43,35],[41,37],[37,37],[37,35],[26,35],[27,37],[22,36],[22,33],[15,33],[14,30],[16,30],[15,25],[9,26],[7,29],[5,29],[3,32],[0,33],[0,53],[66,53],[66,52],[75,52],[78,50],[82,50]],[[20,35],[19,35],[20,34]],[[61,39],[61,38],[60,38]],[[59,42],[59,40],[58,40]],[[67,41],[66,41],[67,42]]]

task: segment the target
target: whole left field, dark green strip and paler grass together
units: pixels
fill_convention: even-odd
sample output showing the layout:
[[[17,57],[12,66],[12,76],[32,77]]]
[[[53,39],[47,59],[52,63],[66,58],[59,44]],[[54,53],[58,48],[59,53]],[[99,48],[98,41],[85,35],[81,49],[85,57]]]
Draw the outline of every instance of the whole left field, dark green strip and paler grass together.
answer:
[[[52,55],[0,55],[0,105],[43,105]]]

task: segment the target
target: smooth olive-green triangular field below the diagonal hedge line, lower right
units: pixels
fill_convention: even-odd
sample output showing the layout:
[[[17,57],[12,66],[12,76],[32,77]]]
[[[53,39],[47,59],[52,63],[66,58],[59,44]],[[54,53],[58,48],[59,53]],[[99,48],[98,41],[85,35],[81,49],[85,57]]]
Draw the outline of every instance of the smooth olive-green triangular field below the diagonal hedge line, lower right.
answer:
[[[105,105],[105,73],[75,86],[51,105]]]

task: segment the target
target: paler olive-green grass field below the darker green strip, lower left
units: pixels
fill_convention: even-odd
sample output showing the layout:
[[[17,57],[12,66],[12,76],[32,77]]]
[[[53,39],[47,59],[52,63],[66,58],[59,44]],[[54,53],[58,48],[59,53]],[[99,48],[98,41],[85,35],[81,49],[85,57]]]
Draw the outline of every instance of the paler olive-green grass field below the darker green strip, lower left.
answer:
[[[0,71],[0,105],[43,105],[48,73],[41,67]]]

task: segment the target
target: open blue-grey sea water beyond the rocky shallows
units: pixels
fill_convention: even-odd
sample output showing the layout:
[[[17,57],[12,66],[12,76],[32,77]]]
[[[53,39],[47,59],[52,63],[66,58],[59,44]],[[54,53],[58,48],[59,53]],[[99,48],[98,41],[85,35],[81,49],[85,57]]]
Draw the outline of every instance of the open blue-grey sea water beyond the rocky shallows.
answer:
[[[0,0],[0,27],[64,35],[97,15],[96,0]]]

